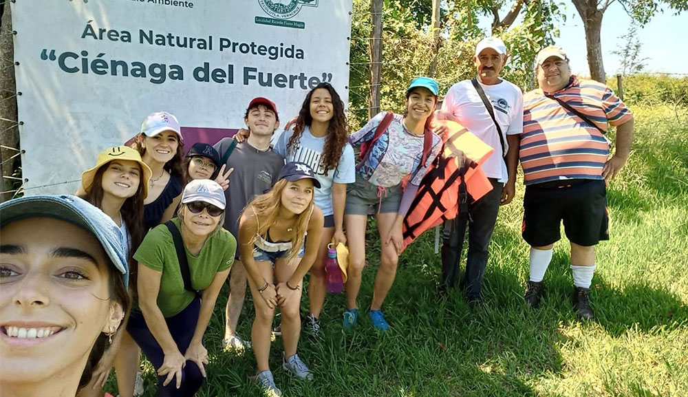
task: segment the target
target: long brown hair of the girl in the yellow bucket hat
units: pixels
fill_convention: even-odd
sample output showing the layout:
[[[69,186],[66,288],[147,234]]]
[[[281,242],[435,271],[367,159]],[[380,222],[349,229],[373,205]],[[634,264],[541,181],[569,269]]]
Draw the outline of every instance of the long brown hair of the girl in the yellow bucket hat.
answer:
[[[96,175],[93,178],[93,183],[89,187],[89,190],[84,195],[80,196],[80,198],[86,200],[97,208],[102,208],[104,193],[103,173],[105,173],[107,167],[109,166],[110,162],[106,162],[100,166],[98,171],[96,171]],[[143,170],[141,167],[139,167],[139,173],[140,175],[143,175]],[[129,232],[129,237],[131,237],[131,247],[129,247],[127,264],[129,264],[129,274],[131,275],[129,286],[134,292],[136,292],[136,268],[138,263],[133,259],[133,254],[136,253],[136,250],[138,250],[138,246],[141,245],[145,235],[143,230],[143,200],[145,199],[143,195],[144,183],[145,181],[143,178],[141,178],[140,183],[138,184],[138,189],[136,189],[136,193],[134,193],[133,196],[128,197],[124,204],[122,204],[122,208],[120,208],[122,221],[124,221],[127,225],[127,232]]]

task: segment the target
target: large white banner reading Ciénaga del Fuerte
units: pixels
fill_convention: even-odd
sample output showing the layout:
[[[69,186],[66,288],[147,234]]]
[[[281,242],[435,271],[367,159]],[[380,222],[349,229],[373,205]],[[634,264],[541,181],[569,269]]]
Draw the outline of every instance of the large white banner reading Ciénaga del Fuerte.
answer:
[[[192,131],[188,149],[208,140],[193,131],[244,127],[256,96],[275,102],[282,122],[323,81],[348,100],[351,0],[11,6],[28,195],[74,193],[98,153],[138,133],[153,111],[169,111]]]

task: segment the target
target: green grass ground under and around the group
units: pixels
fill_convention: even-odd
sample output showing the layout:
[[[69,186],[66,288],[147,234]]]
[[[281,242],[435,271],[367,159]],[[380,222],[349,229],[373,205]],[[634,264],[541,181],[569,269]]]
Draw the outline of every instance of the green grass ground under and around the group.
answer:
[[[499,214],[484,277],[486,304],[471,312],[458,292],[438,299],[440,260],[433,233],[402,255],[385,302],[391,330],[374,332],[367,316],[341,330],[343,296],[328,296],[325,341],[302,337],[299,355],[312,383],[279,369],[281,341],[270,363],[286,396],[688,396],[688,128],[661,108],[636,108],[632,157],[610,186],[611,240],[599,245],[593,279],[594,321],[572,312],[568,243],[555,245],[545,277],[548,296],[524,307],[528,246],[520,237],[520,197]],[[613,138],[613,137],[612,137]],[[372,235],[371,235],[372,236]],[[465,252],[465,250],[464,250]],[[359,303],[372,297],[372,244]],[[211,355],[200,396],[257,396],[252,352],[219,349],[223,290],[206,334]],[[303,299],[305,312],[308,302]],[[250,335],[247,300],[239,333]],[[155,377],[145,371],[147,394]],[[114,381],[109,380],[113,389]]]

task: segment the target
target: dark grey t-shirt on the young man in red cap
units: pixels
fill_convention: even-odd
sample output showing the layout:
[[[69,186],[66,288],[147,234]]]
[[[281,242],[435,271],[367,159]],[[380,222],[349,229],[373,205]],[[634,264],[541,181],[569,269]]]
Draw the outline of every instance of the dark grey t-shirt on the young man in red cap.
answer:
[[[222,138],[213,145],[220,156],[224,155],[233,138]],[[244,141],[237,144],[227,159],[226,169],[233,168],[229,175],[229,188],[224,191],[227,198],[224,228],[239,240],[239,215],[250,200],[270,190],[277,182],[279,171],[284,165],[281,155],[269,149],[259,151]],[[239,255],[239,250],[237,250]]]

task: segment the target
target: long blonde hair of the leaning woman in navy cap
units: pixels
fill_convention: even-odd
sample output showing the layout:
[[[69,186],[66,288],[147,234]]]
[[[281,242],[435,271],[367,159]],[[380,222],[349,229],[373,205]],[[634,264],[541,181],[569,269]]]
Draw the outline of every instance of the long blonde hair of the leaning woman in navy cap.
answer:
[[[258,230],[252,235],[249,244],[255,244],[258,235],[264,238],[268,237],[268,229],[272,224],[275,224],[275,220],[279,215],[279,210],[282,208],[282,191],[284,191],[288,183],[289,181],[286,179],[277,181],[268,193],[257,195],[248,203],[244,211],[241,211],[241,216],[244,216],[248,208],[253,208],[255,216],[259,219]],[[297,222],[293,227],[292,237],[290,239],[292,248],[287,255],[288,261],[294,259],[294,257],[299,255],[299,251],[301,251],[301,246],[303,246],[303,242],[305,241],[305,233],[308,231],[308,222],[310,222],[310,215],[313,212],[314,205],[315,202],[312,193],[310,203],[308,203],[305,210],[297,216]]]

